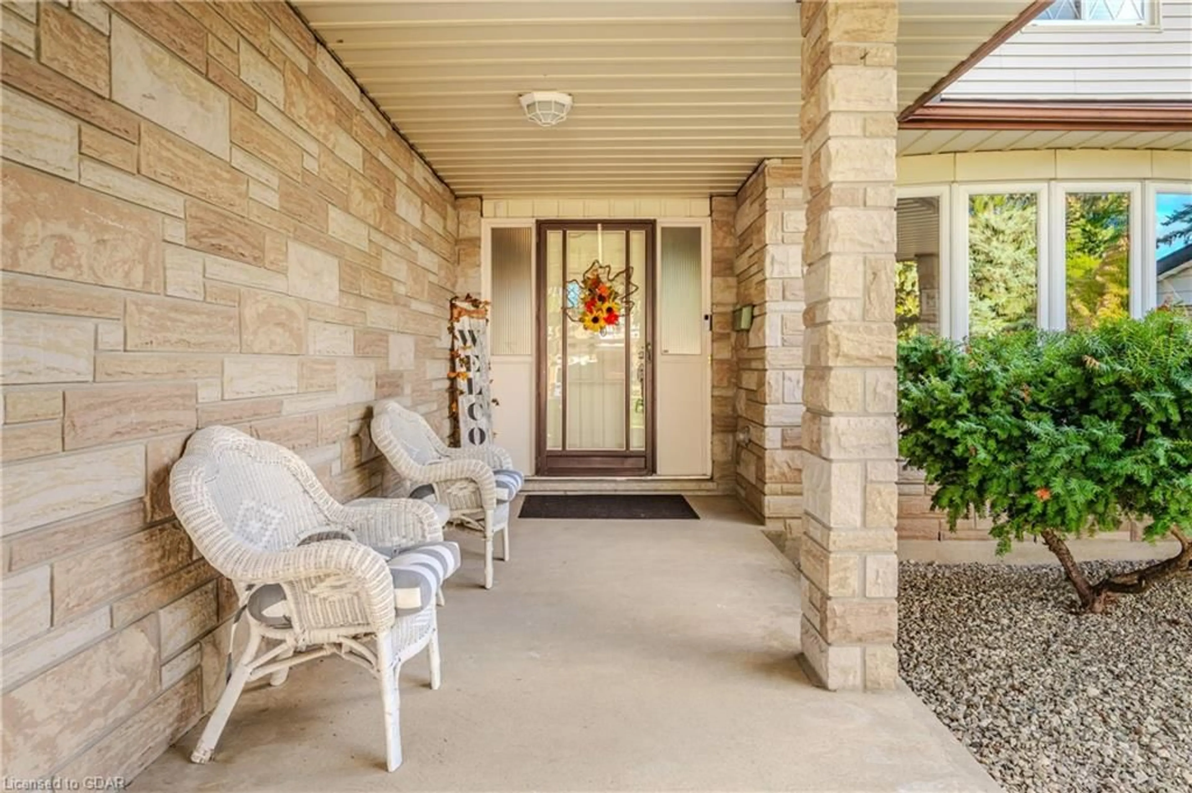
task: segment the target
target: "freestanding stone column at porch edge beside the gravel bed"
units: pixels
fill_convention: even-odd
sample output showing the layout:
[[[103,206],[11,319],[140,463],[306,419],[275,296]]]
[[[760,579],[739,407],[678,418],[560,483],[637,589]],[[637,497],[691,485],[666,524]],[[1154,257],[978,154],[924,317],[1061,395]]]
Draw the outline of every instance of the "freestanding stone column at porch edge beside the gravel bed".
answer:
[[[805,665],[898,679],[896,0],[803,0]]]

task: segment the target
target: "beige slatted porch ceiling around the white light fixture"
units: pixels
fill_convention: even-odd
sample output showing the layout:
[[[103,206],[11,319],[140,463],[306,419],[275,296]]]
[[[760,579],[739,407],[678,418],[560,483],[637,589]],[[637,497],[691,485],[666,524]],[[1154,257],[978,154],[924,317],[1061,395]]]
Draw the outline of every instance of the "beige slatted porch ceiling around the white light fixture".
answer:
[[[796,156],[790,0],[297,0],[460,196],[706,196]],[[1029,5],[904,0],[902,107]],[[575,95],[541,129],[517,97]]]

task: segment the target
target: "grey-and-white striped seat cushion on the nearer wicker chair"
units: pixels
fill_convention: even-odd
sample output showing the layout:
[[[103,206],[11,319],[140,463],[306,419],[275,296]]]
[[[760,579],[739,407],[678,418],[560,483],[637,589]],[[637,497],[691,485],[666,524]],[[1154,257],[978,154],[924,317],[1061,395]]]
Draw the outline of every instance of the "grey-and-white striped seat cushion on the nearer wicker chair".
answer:
[[[390,556],[393,549],[373,549]],[[449,541],[424,543],[402,549],[389,560],[393,577],[393,607],[398,617],[417,614],[434,602],[435,593],[453,572],[459,570],[459,544]],[[248,613],[275,628],[291,627],[290,605],[281,584],[265,584],[248,597]]]

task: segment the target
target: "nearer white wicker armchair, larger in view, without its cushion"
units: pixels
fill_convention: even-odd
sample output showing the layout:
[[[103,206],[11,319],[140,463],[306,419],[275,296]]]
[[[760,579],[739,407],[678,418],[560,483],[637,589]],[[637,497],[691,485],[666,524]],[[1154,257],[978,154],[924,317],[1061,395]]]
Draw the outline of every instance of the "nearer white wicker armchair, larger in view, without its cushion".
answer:
[[[380,679],[387,768],[401,766],[398,674],[429,648],[430,687],[439,688],[437,609],[432,601],[398,617],[386,557],[374,547],[396,552],[441,540],[435,510],[409,500],[346,507],[297,454],[229,427],[207,427],[190,439],[170,471],[169,495],[195,547],[231,578],[249,625],[248,646],[191,760],[211,758],[250,680],[269,676],[280,684],[294,664],[340,655]],[[286,626],[243,611],[265,584],[284,590]],[[259,655],[262,642],[277,645]]]

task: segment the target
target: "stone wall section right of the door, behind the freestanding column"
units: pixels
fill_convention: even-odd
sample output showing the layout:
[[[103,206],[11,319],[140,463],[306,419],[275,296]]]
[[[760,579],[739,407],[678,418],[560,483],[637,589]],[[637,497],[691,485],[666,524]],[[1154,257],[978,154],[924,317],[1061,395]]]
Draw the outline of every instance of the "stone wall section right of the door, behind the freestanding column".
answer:
[[[737,494],[795,538],[802,519],[803,188],[797,162],[768,160],[737,193]]]

